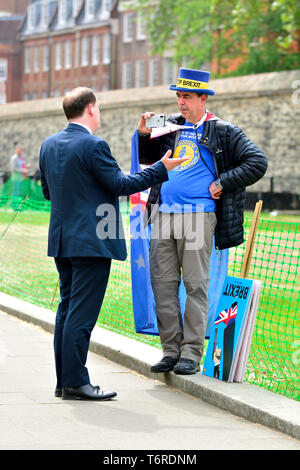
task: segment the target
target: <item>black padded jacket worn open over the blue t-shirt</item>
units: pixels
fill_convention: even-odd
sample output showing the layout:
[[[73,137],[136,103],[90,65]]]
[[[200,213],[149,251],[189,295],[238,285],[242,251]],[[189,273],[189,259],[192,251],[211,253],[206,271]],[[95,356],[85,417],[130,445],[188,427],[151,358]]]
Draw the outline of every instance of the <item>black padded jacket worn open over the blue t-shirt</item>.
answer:
[[[174,114],[168,120],[184,124],[180,114]],[[140,163],[152,164],[161,159],[167,150],[174,151],[178,137],[178,131],[155,139],[139,136]],[[263,177],[268,166],[267,158],[239,127],[222,119],[204,122],[199,144],[211,150],[216,178],[220,178],[223,186],[222,197],[216,201],[215,246],[222,250],[240,245],[244,241],[245,187]],[[151,206],[158,202],[160,188],[161,184],[151,188],[146,206],[148,221]]]

